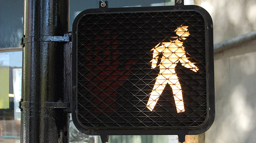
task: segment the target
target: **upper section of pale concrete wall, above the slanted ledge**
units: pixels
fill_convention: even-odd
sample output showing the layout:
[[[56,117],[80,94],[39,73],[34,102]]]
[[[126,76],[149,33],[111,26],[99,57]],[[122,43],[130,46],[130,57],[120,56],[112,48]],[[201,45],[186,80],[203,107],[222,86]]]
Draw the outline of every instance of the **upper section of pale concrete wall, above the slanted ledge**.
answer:
[[[256,30],[256,0],[195,0],[213,20],[214,43]]]

